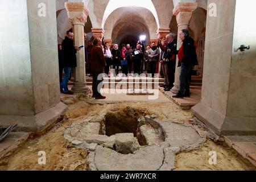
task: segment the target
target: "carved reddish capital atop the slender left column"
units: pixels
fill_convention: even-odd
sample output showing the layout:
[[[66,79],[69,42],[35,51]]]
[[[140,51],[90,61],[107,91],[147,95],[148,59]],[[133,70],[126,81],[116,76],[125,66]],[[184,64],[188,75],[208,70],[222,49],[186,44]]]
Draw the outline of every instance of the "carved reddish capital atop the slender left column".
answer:
[[[68,12],[68,18],[72,24],[85,25],[89,10],[83,2],[65,2],[65,8]]]

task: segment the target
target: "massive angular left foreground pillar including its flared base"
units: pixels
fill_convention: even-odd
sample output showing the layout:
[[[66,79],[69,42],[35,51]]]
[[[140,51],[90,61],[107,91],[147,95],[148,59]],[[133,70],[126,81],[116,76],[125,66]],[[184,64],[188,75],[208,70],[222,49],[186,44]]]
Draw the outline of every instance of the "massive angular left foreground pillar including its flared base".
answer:
[[[32,133],[54,126],[67,110],[60,102],[56,2],[43,2],[46,14],[40,0],[0,1],[0,125]]]

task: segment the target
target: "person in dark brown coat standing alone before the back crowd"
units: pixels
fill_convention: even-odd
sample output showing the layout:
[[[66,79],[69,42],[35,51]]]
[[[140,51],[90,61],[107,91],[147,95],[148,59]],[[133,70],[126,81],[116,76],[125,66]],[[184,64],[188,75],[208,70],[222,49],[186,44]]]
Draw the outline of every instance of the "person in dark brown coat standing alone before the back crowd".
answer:
[[[95,97],[96,99],[105,99],[106,97],[102,96],[100,93],[100,83],[102,82],[104,68],[106,67],[106,61],[101,48],[101,40],[99,38],[93,40],[93,48],[90,52],[90,56],[92,61],[90,71],[93,75],[93,98]]]

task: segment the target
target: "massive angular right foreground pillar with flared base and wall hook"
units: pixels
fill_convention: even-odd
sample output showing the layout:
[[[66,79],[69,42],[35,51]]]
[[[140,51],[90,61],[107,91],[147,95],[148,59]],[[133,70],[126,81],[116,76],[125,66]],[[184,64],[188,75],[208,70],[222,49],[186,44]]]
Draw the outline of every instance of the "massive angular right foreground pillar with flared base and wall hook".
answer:
[[[256,26],[244,16],[253,16],[253,6],[241,0],[208,3],[216,3],[217,17],[207,16],[203,90],[193,113],[218,134],[255,134],[255,48],[235,51],[255,44]]]

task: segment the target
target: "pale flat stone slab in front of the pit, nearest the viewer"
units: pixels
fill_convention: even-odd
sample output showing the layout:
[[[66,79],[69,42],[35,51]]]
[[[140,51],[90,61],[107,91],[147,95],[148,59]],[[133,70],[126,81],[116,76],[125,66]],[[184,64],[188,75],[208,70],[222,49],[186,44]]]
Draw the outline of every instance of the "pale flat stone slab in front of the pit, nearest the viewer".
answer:
[[[144,147],[128,155],[97,146],[94,162],[99,171],[156,171],[163,159],[163,149],[158,146]]]

